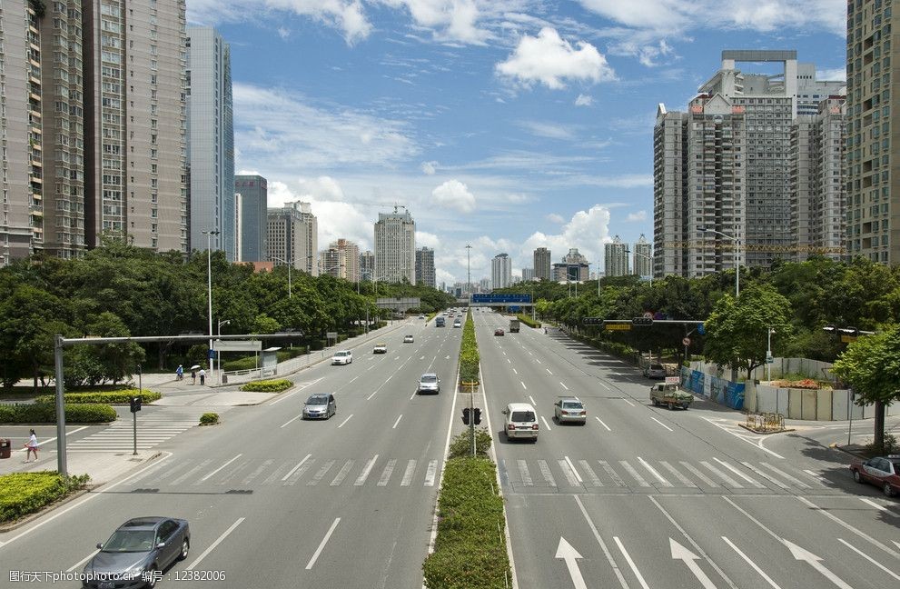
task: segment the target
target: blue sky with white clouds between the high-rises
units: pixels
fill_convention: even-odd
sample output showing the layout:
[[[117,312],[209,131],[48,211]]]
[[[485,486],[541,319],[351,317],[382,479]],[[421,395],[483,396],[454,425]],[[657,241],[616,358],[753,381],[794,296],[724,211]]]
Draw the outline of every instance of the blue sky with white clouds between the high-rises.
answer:
[[[845,0],[188,0],[232,47],[239,173],[302,199],[319,244],[371,248],[405,205],[438,280],[513,274],[535,247],[602,268],[653,241],[657,106],[684,110],[723,49],[796,49],[844,79]],[[748,70],[749,71],[749,70]]]

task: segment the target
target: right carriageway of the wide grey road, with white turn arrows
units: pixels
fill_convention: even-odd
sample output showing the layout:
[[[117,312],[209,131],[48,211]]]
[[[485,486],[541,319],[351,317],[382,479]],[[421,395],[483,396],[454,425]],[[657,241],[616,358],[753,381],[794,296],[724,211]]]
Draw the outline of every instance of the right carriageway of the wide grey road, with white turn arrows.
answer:
[[[519,586],[900,586],[900,505],[855,485],[846,455],[760,438],[697,401],[654,408],[651,381],[565,334],[476,313],[484,389]],[[577,395],[588,424],[553,422]],[[503,407],[535,405],[537,444],[510,444]]]

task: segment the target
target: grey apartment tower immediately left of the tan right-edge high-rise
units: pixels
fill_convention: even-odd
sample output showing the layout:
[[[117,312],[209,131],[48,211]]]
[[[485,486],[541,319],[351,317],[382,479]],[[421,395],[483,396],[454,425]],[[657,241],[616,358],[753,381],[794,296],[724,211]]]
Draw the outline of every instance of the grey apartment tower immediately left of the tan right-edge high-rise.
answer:
[[[834,259],[846,245],[846,101],[832,96],[816,115],[798,115],[791,133],[791,235],[797,261]]]

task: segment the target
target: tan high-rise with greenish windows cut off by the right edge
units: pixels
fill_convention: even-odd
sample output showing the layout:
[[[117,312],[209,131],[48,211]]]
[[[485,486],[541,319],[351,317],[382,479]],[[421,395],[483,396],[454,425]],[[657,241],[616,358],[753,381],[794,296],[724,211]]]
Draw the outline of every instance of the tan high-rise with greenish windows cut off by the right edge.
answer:
[[[893,35],[900,23],[894,22],[894,8],[882,0],[848,0],[846,23],[847,253],[889,265],[900,264],[894,75],[900,44]]]

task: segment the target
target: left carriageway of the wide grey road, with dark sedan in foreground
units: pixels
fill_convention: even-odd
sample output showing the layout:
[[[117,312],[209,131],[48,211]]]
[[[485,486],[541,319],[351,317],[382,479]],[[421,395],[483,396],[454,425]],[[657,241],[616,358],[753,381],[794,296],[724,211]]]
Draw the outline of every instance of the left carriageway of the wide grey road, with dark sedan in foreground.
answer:
[[[0,586],[22,585],[9,570],[80,571],[125,520],[171,515],[190,522],[193,545],[158,586],[420,587],[460,334],[410,320],[383,338],[387,354],[365,344],[352,364],[314,366],[272,401],[164,441],[163,459],[0,534]],[[414,394],[427,371],[441,394]],[[300,419],[315,392],[337,398],[328,421]],[[189,570],[225,580],[177,580]]]

